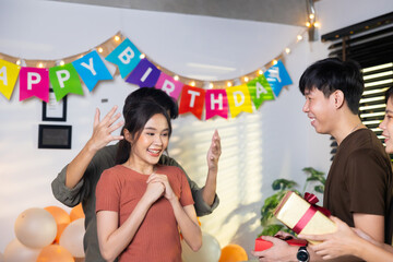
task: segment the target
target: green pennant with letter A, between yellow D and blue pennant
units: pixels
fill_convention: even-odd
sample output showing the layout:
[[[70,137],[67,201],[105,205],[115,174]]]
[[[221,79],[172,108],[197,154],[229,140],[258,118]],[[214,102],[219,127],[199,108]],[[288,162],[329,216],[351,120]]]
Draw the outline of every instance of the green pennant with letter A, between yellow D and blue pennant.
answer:
[[[263,74],[248,82],[247,86],[257,109],[264,100],[274,100],[273,90]]]

